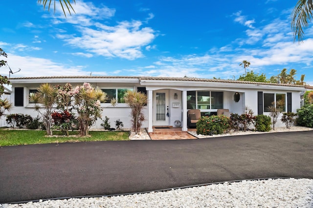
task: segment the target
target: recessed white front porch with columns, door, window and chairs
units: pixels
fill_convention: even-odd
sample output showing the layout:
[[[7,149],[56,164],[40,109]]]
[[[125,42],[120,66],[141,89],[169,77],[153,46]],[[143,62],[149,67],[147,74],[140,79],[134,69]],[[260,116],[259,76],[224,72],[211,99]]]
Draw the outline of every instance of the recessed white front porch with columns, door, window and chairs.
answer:
[[[243,92],[212,90],[206,87],[187,89],[147,87],[147,131],[154,132],[156,130],[154,126],[179,126],[181,131],[187,132],[190,127],[187,112],[190,109],[200,110],[201,116],[217,115],[219,109],[228,109],[229,113],[242,113],[245,106],[244,95]],[[161,131],[165,134],[173,130]],[[160,131],[157,133],[160,134]]]

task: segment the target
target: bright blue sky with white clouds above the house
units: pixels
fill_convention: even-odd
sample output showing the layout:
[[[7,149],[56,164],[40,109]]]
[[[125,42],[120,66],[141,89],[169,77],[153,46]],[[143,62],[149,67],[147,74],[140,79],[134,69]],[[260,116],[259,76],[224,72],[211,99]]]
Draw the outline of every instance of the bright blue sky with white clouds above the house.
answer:
[[[1,2],[11,77],[90,75],[269,78],[283,68],[313,85],[313,23],[293,42],[297,0],[76,0],[76,14],[37,0]],[[58,5],[58,4],[57,4]],[[8,67],[0,74],[8,75]]]

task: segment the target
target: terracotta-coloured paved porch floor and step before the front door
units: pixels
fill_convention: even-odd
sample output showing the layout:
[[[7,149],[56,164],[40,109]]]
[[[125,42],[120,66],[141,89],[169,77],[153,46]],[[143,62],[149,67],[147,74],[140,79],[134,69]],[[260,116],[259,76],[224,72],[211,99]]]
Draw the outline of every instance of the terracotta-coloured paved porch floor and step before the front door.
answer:
[[[149,132],[151,140],[182,140],[182,139],[197,139],[187,131],[182,131],[181,127],[173,126],[153,126],[153,132]],[[196,128],[188,128],[188,131],[197,131]]]

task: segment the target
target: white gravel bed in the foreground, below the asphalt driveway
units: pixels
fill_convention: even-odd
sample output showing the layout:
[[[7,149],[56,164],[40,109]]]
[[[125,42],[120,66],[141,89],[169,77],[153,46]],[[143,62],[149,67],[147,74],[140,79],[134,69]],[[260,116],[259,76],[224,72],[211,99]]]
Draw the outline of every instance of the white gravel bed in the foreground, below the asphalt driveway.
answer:
[[[144,194],[71,198],[27,204],[2,204],[2,208],[312,208],[312,179],[268,179],[214,184]]]

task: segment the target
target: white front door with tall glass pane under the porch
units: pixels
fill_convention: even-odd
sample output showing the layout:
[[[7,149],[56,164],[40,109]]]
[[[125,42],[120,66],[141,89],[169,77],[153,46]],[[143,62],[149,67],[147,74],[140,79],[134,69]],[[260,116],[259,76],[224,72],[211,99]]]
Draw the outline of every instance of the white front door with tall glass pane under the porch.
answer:
[[[169,125],[168,90],[153,92],[153,125]]]

